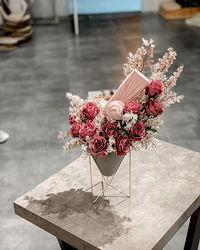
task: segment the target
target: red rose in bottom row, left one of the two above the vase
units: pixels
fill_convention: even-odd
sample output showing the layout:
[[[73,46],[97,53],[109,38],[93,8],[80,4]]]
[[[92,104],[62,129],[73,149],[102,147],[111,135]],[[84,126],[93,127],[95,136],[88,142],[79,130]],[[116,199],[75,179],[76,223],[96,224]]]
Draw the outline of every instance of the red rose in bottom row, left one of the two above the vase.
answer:
[[[96,135],[89,142],[89,149],[93,155],[106,156],[107,140],[103,136]]]

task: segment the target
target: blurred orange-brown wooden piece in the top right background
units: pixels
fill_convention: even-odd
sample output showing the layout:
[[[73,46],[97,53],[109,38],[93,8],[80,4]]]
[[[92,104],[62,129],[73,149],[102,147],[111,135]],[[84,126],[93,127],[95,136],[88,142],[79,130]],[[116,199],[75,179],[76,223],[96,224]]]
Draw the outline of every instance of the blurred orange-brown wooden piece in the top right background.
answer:
[[[200,7],[182,8],[175,2],[161,2],[159,10],[160,15],[167,20],[190,18],[199,12]]]

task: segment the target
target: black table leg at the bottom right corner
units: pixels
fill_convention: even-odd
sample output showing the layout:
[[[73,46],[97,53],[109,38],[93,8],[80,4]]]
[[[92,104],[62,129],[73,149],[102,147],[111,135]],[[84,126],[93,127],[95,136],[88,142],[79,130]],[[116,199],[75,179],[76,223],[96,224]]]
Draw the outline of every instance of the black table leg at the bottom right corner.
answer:
[[[200,239],[200,207],[192,214],[184,250],[198,250]]]

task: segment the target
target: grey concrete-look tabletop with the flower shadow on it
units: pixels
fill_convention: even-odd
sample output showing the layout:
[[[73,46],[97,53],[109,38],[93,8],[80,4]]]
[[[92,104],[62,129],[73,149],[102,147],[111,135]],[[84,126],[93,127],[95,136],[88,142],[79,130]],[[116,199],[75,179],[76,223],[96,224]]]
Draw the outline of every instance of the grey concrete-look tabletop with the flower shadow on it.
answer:
[[[128,157],[115,178],[125,192]],[[198,248],[200,153],[166,142],[158,152],[133,152],[130,199],[101,197],[92,205],[89,180],[88,160],[79,158],[17,199],[15,213],[56,236],[62,249],[107,250],[162,249],[192,216],[185,250]]]

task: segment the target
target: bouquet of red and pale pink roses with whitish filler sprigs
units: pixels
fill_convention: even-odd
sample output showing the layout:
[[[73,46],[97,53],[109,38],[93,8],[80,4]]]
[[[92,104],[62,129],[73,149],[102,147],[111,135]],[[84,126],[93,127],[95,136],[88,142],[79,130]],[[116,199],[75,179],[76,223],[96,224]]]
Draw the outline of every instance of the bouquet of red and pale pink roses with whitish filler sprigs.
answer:
[[[65,144],[65,151],[82,145],[85,156],[105,157],[112,152],[124,156],[130,150],[156,146],[155,136],[163,123],[161,114],[165,108],[183,98],[171,90],[183,66],[167,78],[166,73],[176,59],[176,52],[169,48],[163,58],[154,63],[154,47],[152,40],[143,39],[136,54],[129,53],[128,62],[124,65],[126,79],[117,90],[118,94],[114,94],[115,98],[105,98],[101,94],[95,100],[83,100],[67,93],[71,104],[70,130],[60,132],[59,138],[73,139]],[[149,80],[141,74],[148,71]],[[137,90],[133,84],[134,77],[143,81]],[[122,93],[126,93],[127,97],[120,98]]]

